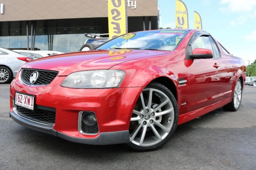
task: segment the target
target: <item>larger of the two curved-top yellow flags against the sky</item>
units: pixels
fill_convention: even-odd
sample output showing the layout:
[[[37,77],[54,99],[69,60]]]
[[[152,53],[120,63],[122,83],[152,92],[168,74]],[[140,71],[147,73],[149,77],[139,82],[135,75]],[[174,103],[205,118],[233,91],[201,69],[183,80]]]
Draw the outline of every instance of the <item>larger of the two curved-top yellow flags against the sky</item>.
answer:
[[[176,0],[176,28],[188,29],[189,28],[189,16],[188,9],[184,2]]]

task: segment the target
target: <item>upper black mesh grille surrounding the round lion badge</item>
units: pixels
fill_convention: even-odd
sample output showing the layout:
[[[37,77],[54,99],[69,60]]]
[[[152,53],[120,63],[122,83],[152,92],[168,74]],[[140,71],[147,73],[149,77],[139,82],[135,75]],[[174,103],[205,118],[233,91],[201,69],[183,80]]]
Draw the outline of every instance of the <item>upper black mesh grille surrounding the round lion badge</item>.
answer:
[[[38,79],[34,84],[30,83],[30,76],[37,71]],[[49,85],[59,72],[49,70],[22,69],[21,80],[28,85]]]

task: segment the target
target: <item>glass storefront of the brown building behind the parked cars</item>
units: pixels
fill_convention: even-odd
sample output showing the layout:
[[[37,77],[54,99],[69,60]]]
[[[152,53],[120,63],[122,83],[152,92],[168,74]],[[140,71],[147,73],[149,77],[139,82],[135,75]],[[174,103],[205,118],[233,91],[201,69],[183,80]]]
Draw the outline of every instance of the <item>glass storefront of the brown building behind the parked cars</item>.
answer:
[[[29,45],[27,45],[27,30],[0,30],[0,46],[19,49],[31,48],[31,29],[28,29]],[[38,50],[52,50],[63,53],[79,51],[85,40],[84,33],[100,34],[100,27],[70,27],[70,28],[36,28],[35,48]]]

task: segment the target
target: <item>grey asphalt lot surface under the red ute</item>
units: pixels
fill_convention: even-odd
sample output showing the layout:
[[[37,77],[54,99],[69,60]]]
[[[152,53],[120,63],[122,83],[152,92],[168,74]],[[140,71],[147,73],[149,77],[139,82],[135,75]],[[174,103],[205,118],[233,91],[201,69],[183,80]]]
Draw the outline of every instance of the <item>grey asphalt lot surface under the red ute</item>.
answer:
[[[0,85],[0,169],[256,169],[256,87],[246,86],[237,112],[219,108],[177,127],[151,152],[123,145],[73,143],[9,117],[9,84]]]

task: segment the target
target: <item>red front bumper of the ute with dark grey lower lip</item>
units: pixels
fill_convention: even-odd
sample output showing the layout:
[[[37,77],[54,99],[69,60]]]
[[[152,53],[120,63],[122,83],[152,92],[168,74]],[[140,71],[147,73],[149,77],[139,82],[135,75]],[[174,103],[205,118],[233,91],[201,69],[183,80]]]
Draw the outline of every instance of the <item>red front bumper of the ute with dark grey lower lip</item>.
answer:
[[[48,86],[28,86],[15,78],[10,85],[10,117],[27,128],[77,143],[106,145],[130,141],[130,119],[143,87],[72,89],[60,86],[64,79],[56,77]],[[14,105],[15,92],[34,95],[35,106],[55,108],[55,124],[44,124],[19,114]],[[99,133],[79,131],[81,111],[96,114]]]

